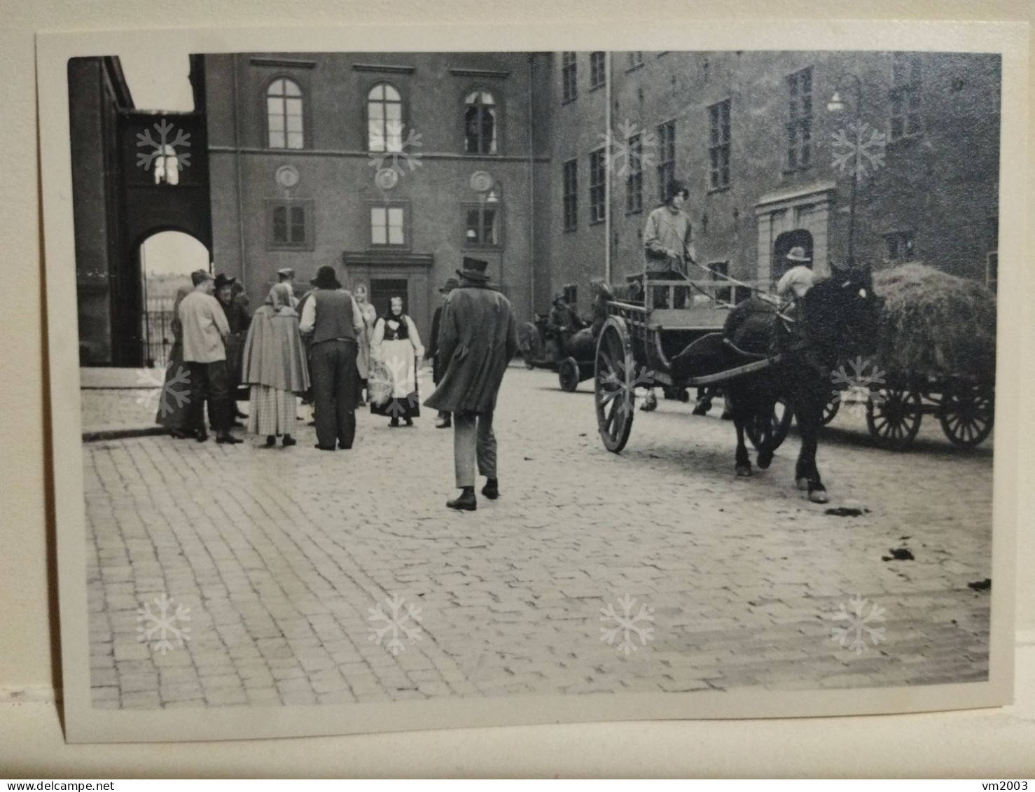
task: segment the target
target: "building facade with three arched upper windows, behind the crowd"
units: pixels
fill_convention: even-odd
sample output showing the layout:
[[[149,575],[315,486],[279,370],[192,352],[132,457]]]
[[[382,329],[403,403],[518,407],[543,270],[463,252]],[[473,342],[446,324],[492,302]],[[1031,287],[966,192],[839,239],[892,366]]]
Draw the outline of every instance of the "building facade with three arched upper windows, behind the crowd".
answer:
[[[426,338],[464,256],[527,316],[549,290],[549,55],[205,57],[213,259],[253,304],[323,265]],[[301,291],[305,286],[300,286]]]

